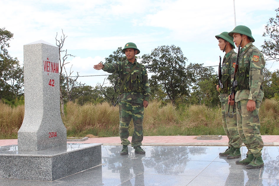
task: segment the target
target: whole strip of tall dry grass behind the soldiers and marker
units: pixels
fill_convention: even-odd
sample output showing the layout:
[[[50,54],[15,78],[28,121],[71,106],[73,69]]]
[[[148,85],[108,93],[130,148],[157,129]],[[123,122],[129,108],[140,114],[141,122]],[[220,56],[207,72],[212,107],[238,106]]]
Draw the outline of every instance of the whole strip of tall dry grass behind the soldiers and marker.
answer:
[[[108,103],[78,105],[69,102],[62,118],[67,136],[83,137],[92,134],[99,137],[119,136],[118,106]],[[266,99],[260,108],[261,134],[279,135],[279,102]],[[17,138],[24,118],[24,106],[10,107],[0,102],[0,139]],[[221,120],[221,108],[204,105],[174,107],[161,105],[158,101],[149,103],[144,110],[144,136],[190,136],[226,135]],[[133,124],[129,127],[133,132]]]

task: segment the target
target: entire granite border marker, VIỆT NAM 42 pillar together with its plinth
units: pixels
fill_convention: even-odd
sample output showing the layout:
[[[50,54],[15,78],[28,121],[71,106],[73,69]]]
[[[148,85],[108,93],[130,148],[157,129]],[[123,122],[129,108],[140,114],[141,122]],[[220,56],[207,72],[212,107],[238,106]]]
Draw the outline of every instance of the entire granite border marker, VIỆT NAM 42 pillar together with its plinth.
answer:
[[[0,149],[0,179],[54,181],[102,163],[102,144],[67,144],[58,54],[43,40],[24,45],[25,114],[18,145]]]

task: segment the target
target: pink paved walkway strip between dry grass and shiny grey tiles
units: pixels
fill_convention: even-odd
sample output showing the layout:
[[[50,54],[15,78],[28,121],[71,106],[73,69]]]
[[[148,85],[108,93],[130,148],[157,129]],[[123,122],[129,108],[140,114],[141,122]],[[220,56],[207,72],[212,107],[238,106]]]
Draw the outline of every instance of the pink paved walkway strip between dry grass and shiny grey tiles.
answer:
[[[128,138],[130,141],[132,137]],[[279,135],[262,136],[265,146],[279,146]],[[102,143],[103,145],[121,145],[119,137],[88,138],[86,141],[68,141],[68,143]],[[219,140],[198,140],[197,136],[144,136],[143,146],[227,146],[228,137],[222,136]],[[0,146],[17,145],[17,139],[0,140]]]

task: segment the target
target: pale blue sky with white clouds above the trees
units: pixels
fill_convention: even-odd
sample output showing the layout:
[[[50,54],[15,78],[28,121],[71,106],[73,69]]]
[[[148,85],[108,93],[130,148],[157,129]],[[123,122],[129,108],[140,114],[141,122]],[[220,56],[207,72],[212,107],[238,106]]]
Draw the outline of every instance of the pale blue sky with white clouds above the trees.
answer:
[[[23,61],[23,46],[44,40],[56,46],[63,33],[67,58],[66,70],[79,72],[78,81],[86,85],[108,85],[108,73],[94,70],[118,47],[128,42],[141,53],[150,54],[162,45],[180,47],[189,63],[216,66],[224,53],[215,35],[230,32],[236,25],[252,31],[253,45],[261,50],[262,37],[270,17],[276,17],[279,0],[0,0],[0,28],[14,34],[8,52]],[[235,8],[235,14],[234,14]],[[270,71],[279,63],[267,61]],[[217,67],[214,67],[217,71]],[[149,75],[150,76],[150,75]]]

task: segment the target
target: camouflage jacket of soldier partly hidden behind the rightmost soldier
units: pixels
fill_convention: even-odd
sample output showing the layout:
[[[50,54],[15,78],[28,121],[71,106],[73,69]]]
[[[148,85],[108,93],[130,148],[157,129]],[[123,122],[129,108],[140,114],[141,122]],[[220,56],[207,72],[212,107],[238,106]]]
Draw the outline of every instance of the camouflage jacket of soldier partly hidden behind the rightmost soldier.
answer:
[[[234,67],[236,62],[237,53],[231,49],[223,58],[222,64],[222,84],[223,89],[219,89],[220,102],[227,102],[228,96],[231,93],[231,87],[234,82]],[[224,90],[226,89],[226,90]]]

